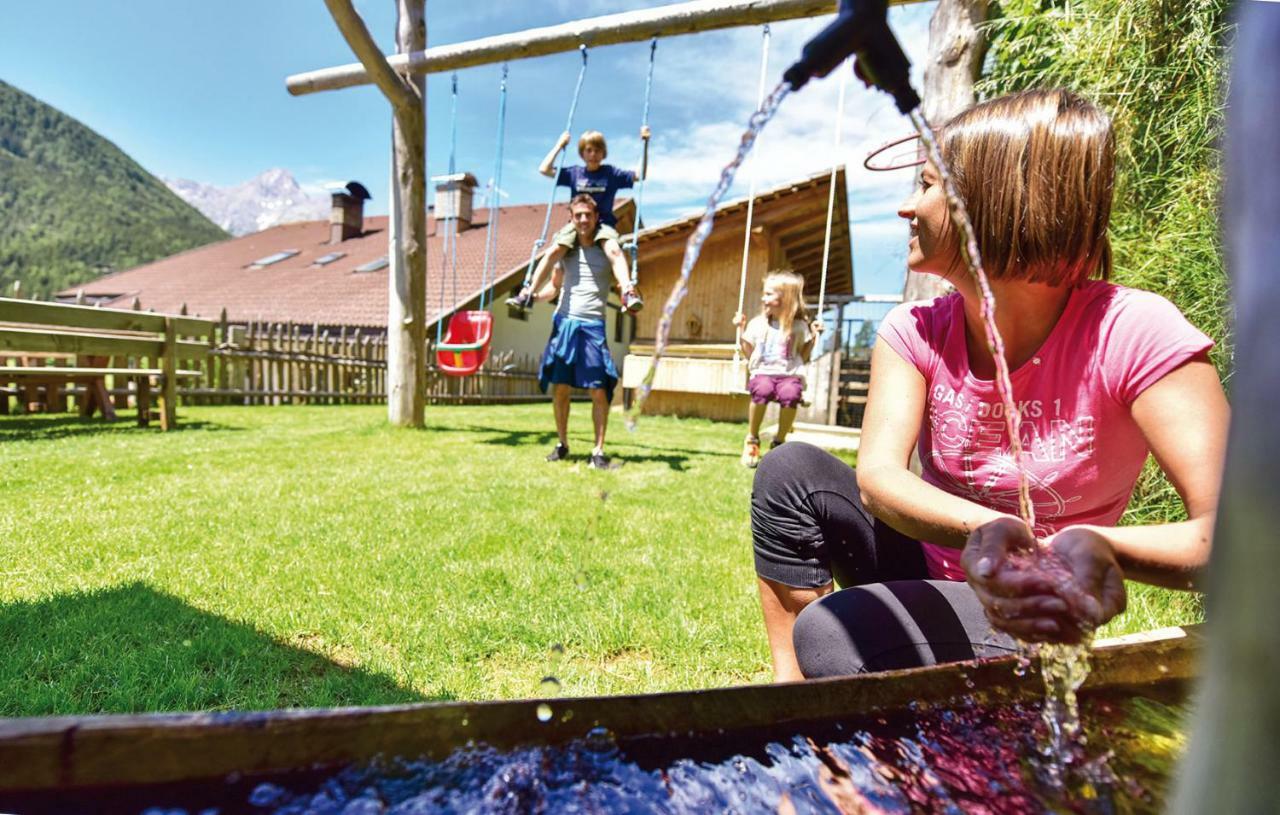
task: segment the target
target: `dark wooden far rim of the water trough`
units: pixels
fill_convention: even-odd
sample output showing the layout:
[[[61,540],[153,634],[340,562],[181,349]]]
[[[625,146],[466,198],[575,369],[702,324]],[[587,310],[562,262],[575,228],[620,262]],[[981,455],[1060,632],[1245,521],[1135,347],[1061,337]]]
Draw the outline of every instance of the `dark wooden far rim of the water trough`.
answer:
[[[1181,628],[1110,641],[1096,649],[1094,670],[1082,692],[1164,687],[1181,693],[1196,673],[1198,651],[1199,636]],[[1016,676],[1009,658],[644,696],[0,719],[0,811],[138,801],[148,791],[225,787],[228,777],[250,783],[379,755],[443,759],[472,741],[497,748],[562,745],[595,727],[607,727],[620,743],[712,734],[732,742],[788,737],[842,718],[946,705],[965,696],[1005,704],[1042,695],[1039,676]],[[549,706],[549,718],[541,705]]]

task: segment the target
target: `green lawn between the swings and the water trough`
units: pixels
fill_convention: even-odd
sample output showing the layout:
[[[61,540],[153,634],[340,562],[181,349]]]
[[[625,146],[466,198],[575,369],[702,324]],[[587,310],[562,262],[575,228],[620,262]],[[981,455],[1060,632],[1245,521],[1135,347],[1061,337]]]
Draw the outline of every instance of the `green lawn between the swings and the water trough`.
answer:
[[[0,417],[0,715],[636,693],[768,679],[742,427],[550,408]],[[1108,632],[1192,622],[1132,596]],[[558,656],[556,645],[563,646]]]

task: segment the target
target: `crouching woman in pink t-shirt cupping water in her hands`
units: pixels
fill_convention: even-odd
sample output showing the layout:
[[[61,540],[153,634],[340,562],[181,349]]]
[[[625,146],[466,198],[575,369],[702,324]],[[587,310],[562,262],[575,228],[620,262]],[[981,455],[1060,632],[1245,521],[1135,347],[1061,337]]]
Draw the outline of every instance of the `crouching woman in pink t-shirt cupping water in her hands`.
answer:
[[[1079,640],[1124,609],[1125,576],[1190,589],[1208,559],[1226,399],[1207,336],[1165,298],[1106,281],[1110,120],[1068,91],[1025,91],[952,119],[942,152],[996,297],[1036,528],[1018,518],[980,296],[925,164],[899,211],[908,266],[955,293],[881,325],[858,472],[797,443],[756,471],[755,567],[778,681],[998,654],[1009,635]],[[1148,452],[1189,519],[1117,527]],[[1036,539],[1069,581],[1011,566]]]

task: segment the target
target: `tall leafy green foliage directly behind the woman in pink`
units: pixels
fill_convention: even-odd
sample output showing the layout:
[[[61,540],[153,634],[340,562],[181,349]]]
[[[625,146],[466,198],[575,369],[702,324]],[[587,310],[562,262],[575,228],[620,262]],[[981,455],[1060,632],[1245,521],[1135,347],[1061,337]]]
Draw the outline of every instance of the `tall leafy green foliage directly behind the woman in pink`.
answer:
[[[1068,87],[1111,114],[1115,280],[1158,292],[1212,336],[1230,368],[1228,281],[1219,230],[1225,0],[1002,0],[989,23],[984,97]],[[1183,517],[1148,463],[1126,518]]]

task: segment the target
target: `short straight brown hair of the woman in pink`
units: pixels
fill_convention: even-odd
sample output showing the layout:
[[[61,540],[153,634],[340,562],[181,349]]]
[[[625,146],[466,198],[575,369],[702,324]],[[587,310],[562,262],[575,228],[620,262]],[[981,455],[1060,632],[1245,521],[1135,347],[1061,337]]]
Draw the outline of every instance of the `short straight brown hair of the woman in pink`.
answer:
[[[1078,285],[1111,274],[1111,119],[1066,90],[974,105],[942,132],[942,156],[995,279]]]

